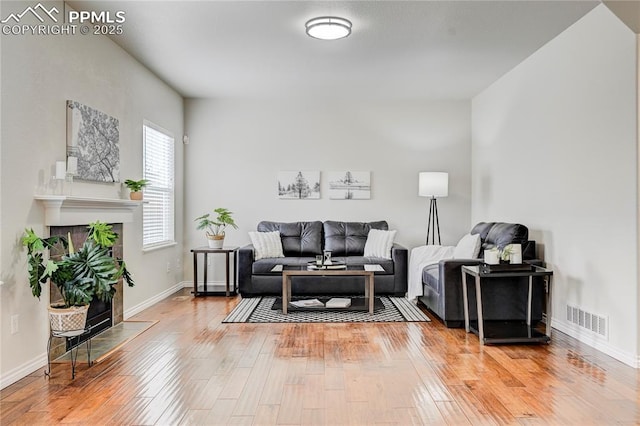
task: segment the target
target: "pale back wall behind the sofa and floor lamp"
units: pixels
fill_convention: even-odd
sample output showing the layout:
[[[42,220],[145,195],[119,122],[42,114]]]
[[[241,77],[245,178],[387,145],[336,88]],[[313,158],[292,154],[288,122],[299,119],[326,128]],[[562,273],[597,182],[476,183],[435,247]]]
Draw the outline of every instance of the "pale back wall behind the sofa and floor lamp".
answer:
[[[443,244],[469,231],[468,101],[188,99],[185,128],[187,247],[206,244],[193,219],[216,207],[240,226],[226,244],[247,244],[260,220],[384,219],[401,244],[422,245],[420,171],[449,172],[449,197],[438,204]],[[370,200],[328,199],[326,172],[349,169],[371,171]],[[279,200],[276,176],[286,170],[319,170],[321,199]]]

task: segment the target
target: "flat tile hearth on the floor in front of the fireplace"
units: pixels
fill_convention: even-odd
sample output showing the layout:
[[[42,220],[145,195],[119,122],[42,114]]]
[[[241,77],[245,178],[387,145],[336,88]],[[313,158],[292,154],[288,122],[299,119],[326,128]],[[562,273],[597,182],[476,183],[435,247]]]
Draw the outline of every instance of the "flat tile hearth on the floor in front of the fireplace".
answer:
[[[123,321],[106,329],[100,334],[91,338],[91,360],[100,362],[123,345],[147,331],[158,321]],[[86,345],[82,343],[79,347],[81,356],[78,361],[82,362]],[[53,362],[70,362],[70,352],[66,352]]]

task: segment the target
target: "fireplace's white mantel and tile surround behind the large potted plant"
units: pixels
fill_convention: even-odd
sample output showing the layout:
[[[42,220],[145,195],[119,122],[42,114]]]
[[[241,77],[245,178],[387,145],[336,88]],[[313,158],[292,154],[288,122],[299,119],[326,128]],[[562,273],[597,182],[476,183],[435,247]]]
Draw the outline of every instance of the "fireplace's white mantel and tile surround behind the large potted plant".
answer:
[[[123,223],[133,221],[133,212],[142,202],[121,199],[85,198],[76,196],[42,195],[35,196],[45,209],[45,225],[49,228],[49,235],[67,236],[71,234],[74,247],[81,247],[87,236],[87,225],[96,220],[109,223],[119,235],[113,246],[114,257],[123,258]],[[61,253],[52,252],[51,256]],[[59,300],[60,293],[55,286],[50,286],[51,301]],[[124,319],[122,279],[116,285],[116,295],[111,302],[111,324],[105,329],[116,325]],[[95,307],[90,308],[90,316]],[[108,307],[104,309],[108,317]],[[101,331],[101,330],[100,330]],[[56,338],[51,343],[51,357],[57,358],[67,350],[65,339]]]

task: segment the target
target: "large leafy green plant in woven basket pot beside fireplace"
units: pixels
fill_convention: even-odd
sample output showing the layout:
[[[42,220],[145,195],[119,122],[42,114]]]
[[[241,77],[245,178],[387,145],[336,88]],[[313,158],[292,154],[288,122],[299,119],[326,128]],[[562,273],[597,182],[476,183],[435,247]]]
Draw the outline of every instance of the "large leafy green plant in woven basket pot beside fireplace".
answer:
[[[49,307],[53,331],[84,329],[91,300],[94,296],[103,301],[113,299],[120,277],[133,287],[125,262],[110,254],[117,239],[111,225],[100,221],[89,224],[87,238],[79,250],[74,249],[70,235],[42,238],[33,229],[25,229],[22,245],[27,249],[31,293],[39,299],[42,284],[51,280],[62,296],[63,303]],[[65,254],[45,260],[45,252],[56,245]]]

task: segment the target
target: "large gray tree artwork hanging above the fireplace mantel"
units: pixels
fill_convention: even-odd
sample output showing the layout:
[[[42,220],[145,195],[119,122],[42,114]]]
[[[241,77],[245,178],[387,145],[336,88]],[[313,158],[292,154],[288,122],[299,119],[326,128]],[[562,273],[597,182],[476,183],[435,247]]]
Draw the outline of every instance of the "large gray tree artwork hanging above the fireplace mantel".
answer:
[[[76,179],[119,182],[119,143],[117,118],[67,101],[67,157],[78,158]]]

